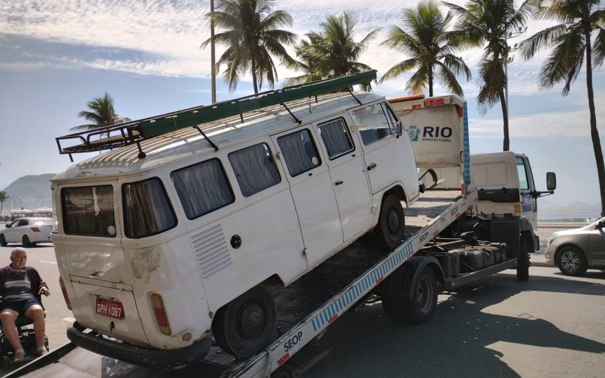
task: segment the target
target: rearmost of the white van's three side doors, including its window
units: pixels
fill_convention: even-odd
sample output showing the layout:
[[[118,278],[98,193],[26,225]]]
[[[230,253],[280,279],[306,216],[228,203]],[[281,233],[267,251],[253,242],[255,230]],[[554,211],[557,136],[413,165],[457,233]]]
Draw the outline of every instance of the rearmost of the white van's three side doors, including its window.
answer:
[[[310,126],[272,135],[298,214],[307,266],[315,266],[342,243],[342,226],[328,166]]]

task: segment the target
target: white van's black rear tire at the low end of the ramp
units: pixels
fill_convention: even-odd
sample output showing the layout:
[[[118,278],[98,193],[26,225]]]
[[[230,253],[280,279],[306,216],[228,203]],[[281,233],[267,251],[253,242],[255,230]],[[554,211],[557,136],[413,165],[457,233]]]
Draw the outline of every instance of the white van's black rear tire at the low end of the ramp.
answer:
[[[218,346],[237,357],[250,357],[269,345],[277,325],[271,292],[257,285],[221,307],[212,321]]]

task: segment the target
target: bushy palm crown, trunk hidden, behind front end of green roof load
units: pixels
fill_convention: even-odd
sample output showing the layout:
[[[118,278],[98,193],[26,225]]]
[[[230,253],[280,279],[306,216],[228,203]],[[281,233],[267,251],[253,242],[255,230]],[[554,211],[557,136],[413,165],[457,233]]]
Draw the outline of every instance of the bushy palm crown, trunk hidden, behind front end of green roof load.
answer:
[[[371,70],[370,66],[357,60],[381,28],[370,31],[361,41],[355,42],[353,37],[358,21],[358,16],[345,11],[340,16],[327,16],[320,24],[320,31],[305,34],[310,42],[302,42],[296,51],[303,60],[298,62],[299,67],[304,66],[307,71],[300,77],[300,82]]]

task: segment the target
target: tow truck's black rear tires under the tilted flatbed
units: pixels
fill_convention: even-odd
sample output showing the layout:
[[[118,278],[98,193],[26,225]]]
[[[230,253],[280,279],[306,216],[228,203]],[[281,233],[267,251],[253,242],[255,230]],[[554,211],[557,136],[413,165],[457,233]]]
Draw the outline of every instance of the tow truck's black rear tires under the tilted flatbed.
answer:
[[[430,267],[424,267],[414,282],[411,299],[384,295],[382,308],[396,322],[424,324],[433,319],[437,310],[437,295],[439,292],[435,273]]]

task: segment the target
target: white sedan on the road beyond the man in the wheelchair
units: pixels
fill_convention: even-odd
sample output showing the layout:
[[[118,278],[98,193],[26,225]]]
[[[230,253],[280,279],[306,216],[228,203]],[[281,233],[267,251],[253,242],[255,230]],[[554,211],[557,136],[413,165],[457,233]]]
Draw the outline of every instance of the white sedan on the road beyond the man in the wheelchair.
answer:
[[[18,218],[0,230],[0,246],[21,243],[24,247],[31,247],[36,243],[51,243],[51,232],[52,218]]]

